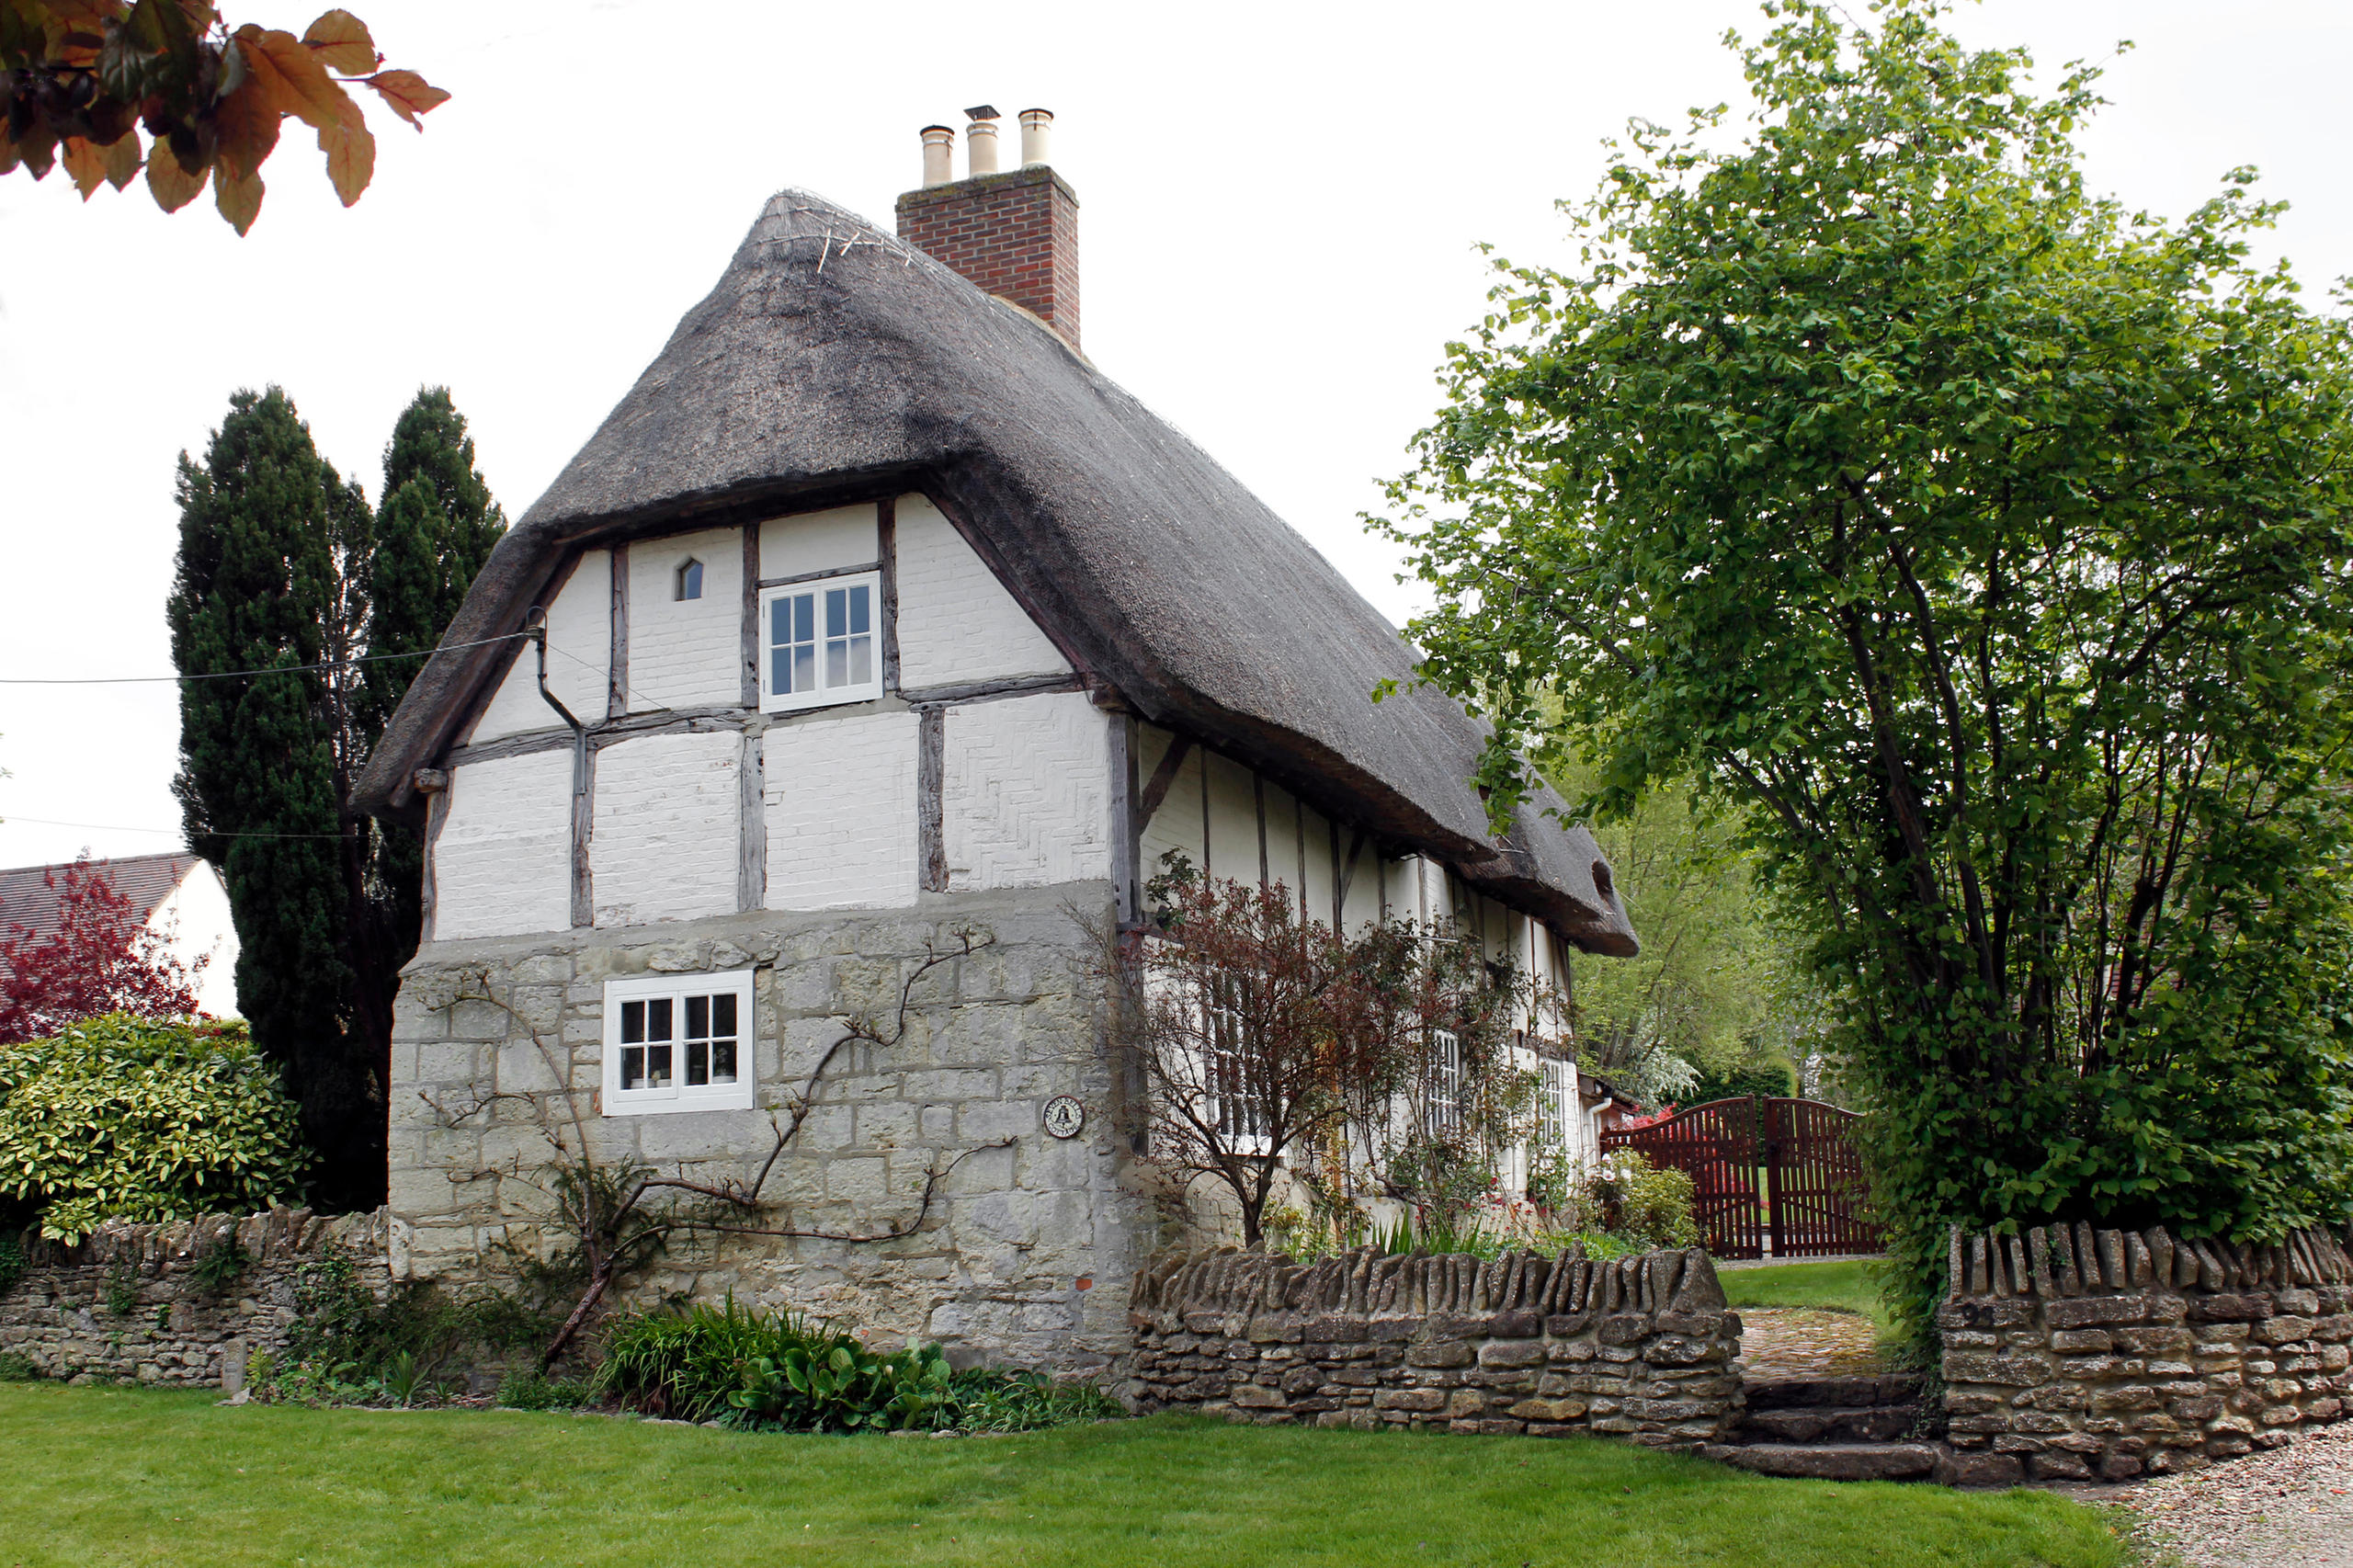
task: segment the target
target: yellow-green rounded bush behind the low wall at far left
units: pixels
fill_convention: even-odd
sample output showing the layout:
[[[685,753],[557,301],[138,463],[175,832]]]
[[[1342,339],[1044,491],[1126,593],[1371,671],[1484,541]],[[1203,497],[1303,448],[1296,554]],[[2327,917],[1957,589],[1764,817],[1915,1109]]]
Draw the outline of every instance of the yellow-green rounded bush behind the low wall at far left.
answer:
[[[99,1220],[249,1212],[301,1191],[308,1154],[242,1024],[113,1012],[0,1045],[0,1198],[45,1236]]]

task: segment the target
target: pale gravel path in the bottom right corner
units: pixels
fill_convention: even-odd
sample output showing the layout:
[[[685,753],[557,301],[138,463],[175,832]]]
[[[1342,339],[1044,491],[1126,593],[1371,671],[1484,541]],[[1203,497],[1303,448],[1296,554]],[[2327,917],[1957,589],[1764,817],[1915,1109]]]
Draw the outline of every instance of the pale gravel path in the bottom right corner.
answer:
[[[2353,1568],[2353,1422],[2104,1502],[2139,1514],[2193,1568]]]

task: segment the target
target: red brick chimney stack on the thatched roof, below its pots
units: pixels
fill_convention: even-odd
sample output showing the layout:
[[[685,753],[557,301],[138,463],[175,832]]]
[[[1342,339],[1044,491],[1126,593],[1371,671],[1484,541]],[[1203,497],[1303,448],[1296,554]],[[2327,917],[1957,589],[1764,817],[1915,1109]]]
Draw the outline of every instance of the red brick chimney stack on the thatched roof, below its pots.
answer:
[[[1078,195],[1054,170],[908,191],[899,198],[899,238],[1042,315],[1078,348]]]

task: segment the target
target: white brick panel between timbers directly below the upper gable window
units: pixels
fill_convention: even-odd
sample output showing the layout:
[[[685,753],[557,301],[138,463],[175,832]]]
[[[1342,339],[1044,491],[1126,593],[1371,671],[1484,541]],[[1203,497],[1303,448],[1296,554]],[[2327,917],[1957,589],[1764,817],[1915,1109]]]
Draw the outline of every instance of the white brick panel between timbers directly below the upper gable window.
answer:
[[[913,713],[861,713],[767,732],[769,909],[915,902],[918,730]]]

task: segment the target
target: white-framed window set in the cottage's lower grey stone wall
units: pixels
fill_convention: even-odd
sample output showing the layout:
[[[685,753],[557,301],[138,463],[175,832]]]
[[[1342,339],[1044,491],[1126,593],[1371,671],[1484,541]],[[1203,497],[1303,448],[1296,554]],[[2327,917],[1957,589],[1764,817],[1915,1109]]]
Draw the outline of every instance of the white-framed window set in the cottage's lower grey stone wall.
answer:
[[[605,982],[605,1114],[744,1111],[751,970]]]

